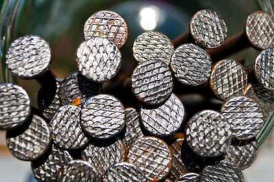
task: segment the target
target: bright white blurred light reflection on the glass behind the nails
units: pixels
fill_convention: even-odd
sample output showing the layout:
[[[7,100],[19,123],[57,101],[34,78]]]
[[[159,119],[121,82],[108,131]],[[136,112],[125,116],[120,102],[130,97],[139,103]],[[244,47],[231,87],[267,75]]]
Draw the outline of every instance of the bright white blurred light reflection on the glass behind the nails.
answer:
[[[145,30],[153,30],[157,26],[159,10],[154,5],[142,8],[139,12],[140,25]]]

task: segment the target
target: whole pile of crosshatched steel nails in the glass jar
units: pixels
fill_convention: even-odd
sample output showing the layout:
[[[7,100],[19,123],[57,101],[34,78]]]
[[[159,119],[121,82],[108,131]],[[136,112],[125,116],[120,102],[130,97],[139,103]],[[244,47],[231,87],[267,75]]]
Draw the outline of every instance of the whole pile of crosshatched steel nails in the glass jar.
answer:
[[[273,111],[273,29],[273,17],[258,11],[227,38],[223,18],[200,10],[173,41],[158,31],[140,34],[132,48],[138,65],[126,87],[142,104],[127,108],[101,89],[121,66],[128,30],[119,14],[88,18],[76,53],[79,72],[64,79],[49,69],[49,44],[23,36],[10,45],[6,64],[16,77],[42,84],[40,113],[23,88],[2,83],[0,129],[12,155],[31,161],[38,181],[244,181],[242,170],[258,153],[256,135]],[[212,58],[248,45],[261,52],[247,68]],[[178,84],[209,88],[224,103],[186,120],[173,89]]]

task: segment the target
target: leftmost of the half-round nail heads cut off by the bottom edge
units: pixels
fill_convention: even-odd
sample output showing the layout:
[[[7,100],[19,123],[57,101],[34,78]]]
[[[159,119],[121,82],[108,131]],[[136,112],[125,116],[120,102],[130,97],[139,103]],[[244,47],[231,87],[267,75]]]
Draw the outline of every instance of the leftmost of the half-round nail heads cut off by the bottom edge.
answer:
[[[57,181],[100,181],[99,173],[95,166],[86,161],[69,161],[62,166]]]

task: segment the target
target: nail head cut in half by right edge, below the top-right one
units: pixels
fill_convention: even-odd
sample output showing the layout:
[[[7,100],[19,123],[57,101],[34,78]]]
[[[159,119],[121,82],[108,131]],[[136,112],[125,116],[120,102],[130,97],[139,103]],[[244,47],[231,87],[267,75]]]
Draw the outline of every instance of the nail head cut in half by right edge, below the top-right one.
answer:
[[[267,89],[274,90],[274,48],[265,49],[256,57],[254,73]]]

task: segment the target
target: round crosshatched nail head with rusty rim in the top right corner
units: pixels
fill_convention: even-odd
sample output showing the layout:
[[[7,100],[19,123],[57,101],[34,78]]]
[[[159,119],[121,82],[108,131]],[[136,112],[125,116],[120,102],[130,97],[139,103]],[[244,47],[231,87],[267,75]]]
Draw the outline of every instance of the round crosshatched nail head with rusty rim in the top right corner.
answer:
[[[257,11],[247,16],[245,34],[252,46],[258,50],[273,47],[273,16],[267,12]]]

